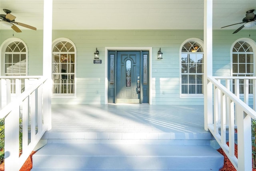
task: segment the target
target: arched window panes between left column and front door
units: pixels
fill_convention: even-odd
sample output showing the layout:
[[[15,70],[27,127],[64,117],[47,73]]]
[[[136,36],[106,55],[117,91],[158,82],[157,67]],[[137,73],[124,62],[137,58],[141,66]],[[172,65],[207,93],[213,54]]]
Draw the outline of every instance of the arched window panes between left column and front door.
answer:
[[[74,95],[76,48],[70,40],[56,40],[52,50],[53,94]]]

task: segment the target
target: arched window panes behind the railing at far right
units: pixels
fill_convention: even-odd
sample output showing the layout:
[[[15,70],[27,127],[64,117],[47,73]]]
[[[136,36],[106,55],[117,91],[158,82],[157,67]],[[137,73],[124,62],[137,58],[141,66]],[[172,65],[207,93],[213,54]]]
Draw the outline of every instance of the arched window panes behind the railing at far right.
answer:
[[[232,47],[232,76],[254,76],[254,52],[246,40],[237,41]],[[240,93],[244,93],[244,80],[239,80]],[[233,80],[233,91],[234,91]],[[249,80],[249,93],[252,93],[252,80]]]

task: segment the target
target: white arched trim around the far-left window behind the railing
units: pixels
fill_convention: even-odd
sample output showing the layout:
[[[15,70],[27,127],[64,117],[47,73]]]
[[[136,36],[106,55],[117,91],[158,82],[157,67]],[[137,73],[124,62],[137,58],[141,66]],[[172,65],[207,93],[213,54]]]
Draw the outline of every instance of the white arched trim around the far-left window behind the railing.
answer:
[[[0,46],[0,52],[1,52],[1,65],[0,65],[1,73],[0,73],[0,75],[4,76],[4,74],[5,74],[5,66],[4,66],[5,55],[4,54],[5,54],[5,50],[6,50],[7,46],[12,42],[22,42],[25,46],[25,49],[26,49],[26,53],[25,53],[26,54],[26,76],[27,76],[28,75],[28,46],[26,45],[26,43],[23,40],[21,40],[19,38],[9,38],[1,44],[1,46]],[[22,52],[22,53],[24,53],[24,52]]]

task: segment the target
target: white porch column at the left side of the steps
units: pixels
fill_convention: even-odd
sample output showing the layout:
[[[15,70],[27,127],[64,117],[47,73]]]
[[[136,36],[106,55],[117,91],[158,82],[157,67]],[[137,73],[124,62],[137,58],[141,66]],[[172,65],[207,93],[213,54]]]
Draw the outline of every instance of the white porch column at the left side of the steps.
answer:
[[[44,0],[43,76],[48,78],[44,86],[44,121],[52,128],[52,0]]]

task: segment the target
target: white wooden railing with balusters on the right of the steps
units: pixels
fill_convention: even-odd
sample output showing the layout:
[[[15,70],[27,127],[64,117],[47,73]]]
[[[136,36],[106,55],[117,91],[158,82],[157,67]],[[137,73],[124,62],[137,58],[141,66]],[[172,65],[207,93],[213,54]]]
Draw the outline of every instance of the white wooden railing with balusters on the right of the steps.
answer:
[[[235,93],[230,91],[231,80],[234,80]],[[244,80],[243,86],[240,86],[241,82],[239,85],[239,80]],[[238,171],[252,170],[251,119],[256,119],[256,111],[248,106],[248,80],[256,80],[256,77],[207,78],[208,85],[212,85],[213,88],[213,112],[205,115],[208,118],[208,129]],[[208,87],[210,88],[210,86]],[[244,101],[239,98],[239,87],[244,87]],[[252,87],[255,89],[255,85]],[[211,96],[210,92],[212,91],[207,92],[208,96]],[[255,90],[253,92],[255,94]],[[255,95],[252,98],[255,101]],[[212,98],[208,97],[207,100],[211,101]],[[226,131],[228,131],[228,139]],[[235,156],[234,146],[236,131],[238,158]],[[226,141],[229,141],[229,146]]]

